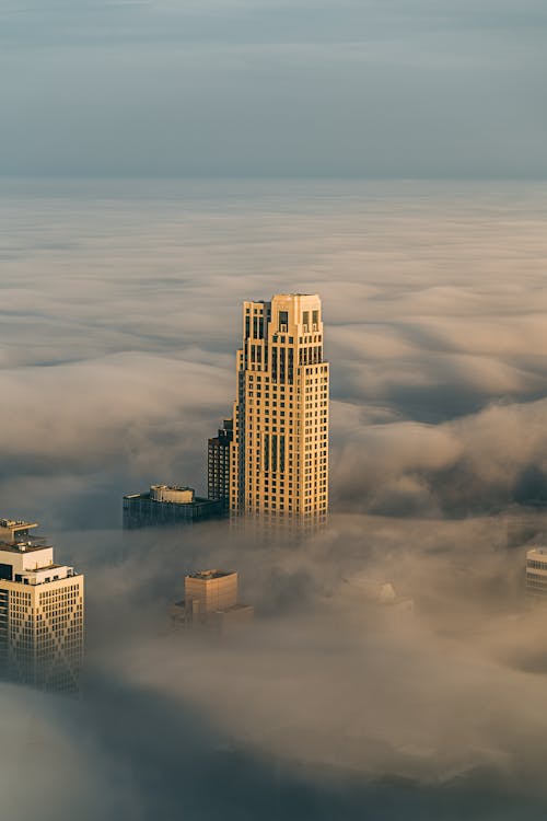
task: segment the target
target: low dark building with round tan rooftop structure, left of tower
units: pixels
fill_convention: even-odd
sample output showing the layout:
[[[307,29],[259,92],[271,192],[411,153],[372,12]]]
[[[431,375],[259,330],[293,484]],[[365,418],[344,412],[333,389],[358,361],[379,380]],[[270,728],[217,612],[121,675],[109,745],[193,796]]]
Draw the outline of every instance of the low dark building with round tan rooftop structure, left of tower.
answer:
[[[203,499],[191,487],[151,485],[149,493],[124,496],[124,528],[195,524],[224,514],[220,499]]]

